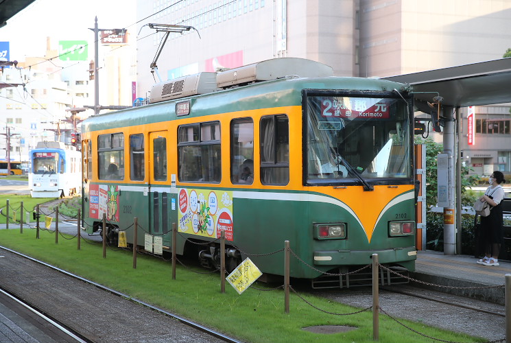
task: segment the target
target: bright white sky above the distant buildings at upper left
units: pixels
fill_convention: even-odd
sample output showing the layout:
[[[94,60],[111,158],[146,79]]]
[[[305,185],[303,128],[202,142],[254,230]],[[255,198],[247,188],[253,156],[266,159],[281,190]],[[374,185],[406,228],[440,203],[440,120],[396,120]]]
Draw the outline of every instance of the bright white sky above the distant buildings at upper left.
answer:
[[[36,0],[0,28],[0,42],[10,42],[10,60],[44,56],[47,37],[51,49],[59,40],[94,42],[95,16],[99,29],[126,28],[136,36],[135,0]],[[93,57],[93,47],[88,49]]]

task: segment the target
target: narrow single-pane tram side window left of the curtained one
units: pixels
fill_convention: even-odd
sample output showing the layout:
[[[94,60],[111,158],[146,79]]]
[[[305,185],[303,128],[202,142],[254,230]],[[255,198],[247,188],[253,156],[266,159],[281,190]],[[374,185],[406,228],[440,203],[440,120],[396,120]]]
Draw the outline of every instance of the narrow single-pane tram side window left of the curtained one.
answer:
[[[235,185],[254,182],[254,121],[235,119],[230,123],[230,180]]]

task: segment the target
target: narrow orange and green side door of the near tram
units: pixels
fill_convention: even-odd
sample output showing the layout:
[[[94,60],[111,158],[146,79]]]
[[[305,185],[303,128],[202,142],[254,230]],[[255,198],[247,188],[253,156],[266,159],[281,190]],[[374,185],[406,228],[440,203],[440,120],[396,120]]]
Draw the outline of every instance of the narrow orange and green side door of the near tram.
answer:
[[[160,236],[171,230],[169,209],[171,204],[170,180],[167,171],[169,132],[157,131],[149,134],[149,216],[150,234]],[[165,235],[169,237],[169,235]],[[163,237],[165,237],[163,236]],[[168,241],[163,241],[167,246]]]

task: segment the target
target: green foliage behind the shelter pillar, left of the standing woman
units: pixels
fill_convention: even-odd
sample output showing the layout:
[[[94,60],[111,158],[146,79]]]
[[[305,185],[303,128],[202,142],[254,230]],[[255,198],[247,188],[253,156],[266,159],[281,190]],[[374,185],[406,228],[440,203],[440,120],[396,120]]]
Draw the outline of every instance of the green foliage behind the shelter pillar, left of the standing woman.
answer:
[[[442,144],[436,143],[431,138],[418,139],[417,144],[426,144],[426,205],[436,206],[438,189],[438,169],[436,156],[443,151]],[[470,167],[462,166],[462,205],[471,205],[475,201],[475,195],[471,187],[477,184],[478,176],[468,175]]]

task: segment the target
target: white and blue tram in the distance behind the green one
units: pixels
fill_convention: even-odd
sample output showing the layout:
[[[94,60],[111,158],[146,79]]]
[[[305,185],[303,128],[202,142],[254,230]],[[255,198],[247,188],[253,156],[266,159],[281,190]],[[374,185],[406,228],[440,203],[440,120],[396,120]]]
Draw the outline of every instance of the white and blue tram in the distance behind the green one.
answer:
[[[82,187],[82,154],[62,142],[39,142],[30,151],[28,184],[32,198],[73,196]]]

